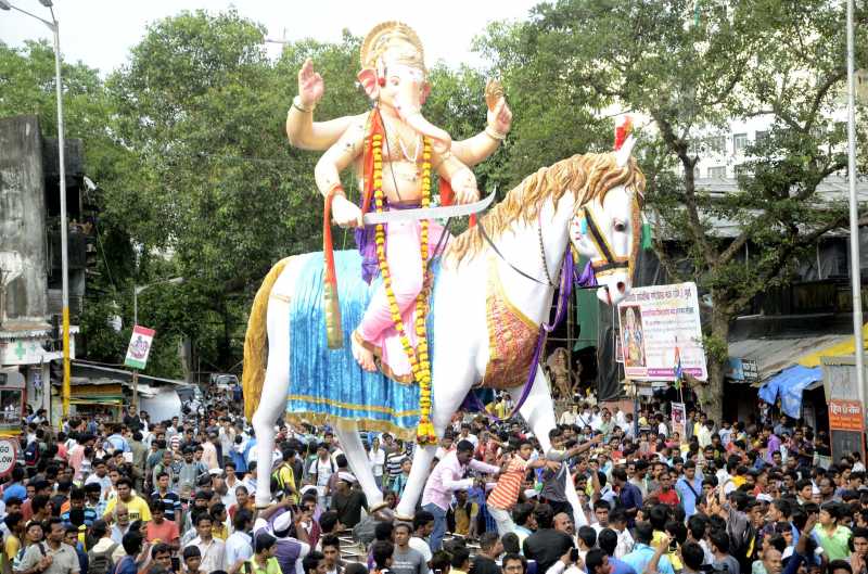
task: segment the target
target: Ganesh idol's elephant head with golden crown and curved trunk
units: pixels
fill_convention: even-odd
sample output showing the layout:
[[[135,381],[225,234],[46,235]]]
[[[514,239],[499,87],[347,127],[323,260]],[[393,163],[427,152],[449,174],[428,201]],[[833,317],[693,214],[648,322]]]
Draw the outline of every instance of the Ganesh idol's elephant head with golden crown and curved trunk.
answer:
[[[435,150],[451,146],[451,137],[422,115],[431,86],[426,81],[424,52],[416,33],[406,24],[375,26],[361,47],[358,79],[368,97],[404,123],[433,140]]]

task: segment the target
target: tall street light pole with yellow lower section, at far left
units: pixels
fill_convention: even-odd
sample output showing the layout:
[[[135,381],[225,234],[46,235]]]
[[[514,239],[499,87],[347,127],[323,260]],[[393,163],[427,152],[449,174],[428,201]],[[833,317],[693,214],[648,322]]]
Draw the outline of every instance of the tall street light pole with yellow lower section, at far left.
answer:
[[[7,0],[0,0],[0,9],[15,10],[38,20],[54,35],[54,89],[58,98],[58,158],[60,167],[61,187],[61,297],[63,317],[63,416],[69,416],[69,259],[68,259],[68,239],[66,225],[66,148],[64,145],[63,129],[63,81],[61,78],[61,37],[58,18],[54,17],[54,9],[51,0],[39,0],[42,5],[51,11],[51,22],[43,20],[36,14],[10,4]],[[50,388],[50,385],[49,385]],[[49,418],[51,413],[49,412]]]

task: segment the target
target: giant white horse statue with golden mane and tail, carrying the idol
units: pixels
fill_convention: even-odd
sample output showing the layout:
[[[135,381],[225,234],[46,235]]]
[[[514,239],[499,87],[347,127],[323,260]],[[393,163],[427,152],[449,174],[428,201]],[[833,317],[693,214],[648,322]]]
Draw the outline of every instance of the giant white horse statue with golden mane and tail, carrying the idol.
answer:
[[[481,225],[448,242],[433,288],[430,321],[433,323],[430,326],[433,327],[431,422],[437,436],[443,436],[451,416],[474,385],[508,388],[511,396],[519,397],[527,369],[533,368],[537,371],[535,382],[520,413],[542,449],[548,450],[548,433],[556,425],[554,409],[542,368],[529,365],[529,354],[539,326],[548,319],[553,283],[564,255],[572,256],[571,244],[591,260],[601,301],[614,305],[630,289],[641,229],[639,201],[644,190],[644,176],[630,157],[633,145],[630,136],[615,152],[575,155],[539,169],[482,217]],[[247,416],[253,414],[258,441],[256,505],[261,507],[271,501],[270,467],[264,461],[272,459],[275,423],[289,411],[291,417],[328,421],[334,428],[349,467],[373,506],[382,501],[382,493],[374,482],[358,431],[359,428],[382,430],[383,425],[378,421],[366,424],[365,420],[349,417],[305,417],[297,410],[292,412],[289,406],[293,392],[297,392],[293,386],[299,384],[291,380],[290,354],[297,353],[295,344],[309,347],[308,339],[290,340],[290,307],[299,289],[302,268],[310,258],[321,259],[322,255],[288,257],[271,269],[256,294],[247,326],[243,379],[245,408]],[[339,281],[354,279],[340,277]],[[310,303],[311,309],[316,306]],[[304,314],[305,309],[297,312]],[[500,323],[492,324],[493,314],[497,314]],[[514,323],[511,336],[525,333],[524,340],[506,341],[511,336],[500,336],[498,329],[509,329],[510,321]],[[308,329],[315,331],[309,337],[324,341],[324,326]],[[267,369],[264,369],[266,344]],[[511,352],[515,355],[510,356]],[[524,359],[527,365],[522,366],[516,359]],[[352,356],[347,371],[337,375],[349,378],[353,374],[349,369],[361,371]],[[306,399],[318,404],[333,399],[328,391],[322,395],[327,396]],[[407,435],[413,432],[409,429]],[[414,513],[435,450],[434,446],[417,448],[397,515]],[[584,513],[579,511],[572,480],[567,481],[567,498],[576,518],[582,520]]]

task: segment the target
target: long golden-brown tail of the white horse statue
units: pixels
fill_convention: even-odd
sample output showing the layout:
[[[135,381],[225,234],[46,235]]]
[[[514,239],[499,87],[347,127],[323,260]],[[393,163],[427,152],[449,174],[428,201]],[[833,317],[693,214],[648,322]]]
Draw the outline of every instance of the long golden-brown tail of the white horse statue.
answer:
[[[281,259],[263,279],[259,291],[253,299],[251,317],[247,320],[247,333],[244,335],[244,369],[241,374],[241,386],[244,390],[244,416],[253,420],[253,413],[259,406],[265,385],[265,366],[268,361],[268,301],[280,273],[292,257]]]

